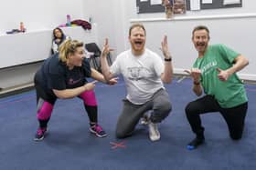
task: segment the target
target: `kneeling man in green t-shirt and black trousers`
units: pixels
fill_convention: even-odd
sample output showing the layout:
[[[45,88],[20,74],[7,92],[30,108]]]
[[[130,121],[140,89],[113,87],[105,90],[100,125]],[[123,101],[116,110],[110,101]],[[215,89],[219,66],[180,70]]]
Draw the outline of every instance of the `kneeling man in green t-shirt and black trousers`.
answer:
[[[199,96],[186,106],[187,120],[196,138],[187,149],[195,149],[205,141],[201,114],[219,112],[229,127],[233,140],[241,138],[248,108],[248,98],[243,83],[236,72],[249,61],[243,55],[225,45],[208,45],[208,27],[198,25],[192,32],[192,41],[197,49],[197,60],[186,72],[194,81],[193,91]]]

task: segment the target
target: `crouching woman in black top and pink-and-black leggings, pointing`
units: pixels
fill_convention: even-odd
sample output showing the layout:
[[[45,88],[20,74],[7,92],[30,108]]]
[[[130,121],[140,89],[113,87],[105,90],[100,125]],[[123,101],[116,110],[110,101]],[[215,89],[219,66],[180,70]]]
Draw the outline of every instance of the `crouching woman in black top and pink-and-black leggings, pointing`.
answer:
[[[86,77],[96,81],[88,82]],[[117,83],[116,78],[106,82],[101,73],[91,68],[89,61],[85,58],[83,43],[70,39],[63,42],[59,46],[59,54],[50,56],[35,75],[39,122],[35,140],[44,139],[56,100],[75,96],[83,100],[90,119],[91,133],[98,137],[106,136],[97,123],[97,101],[93,91],[97,81],[109,85]]]

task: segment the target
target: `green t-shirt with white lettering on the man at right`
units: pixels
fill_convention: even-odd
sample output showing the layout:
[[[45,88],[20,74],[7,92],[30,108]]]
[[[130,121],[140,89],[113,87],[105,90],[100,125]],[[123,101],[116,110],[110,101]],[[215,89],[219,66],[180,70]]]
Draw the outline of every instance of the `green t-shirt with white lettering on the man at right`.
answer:
[[[223,108],[241,105],[248,101],[243,83],[237,74],[229,76],[225,82],[218,78],[216,68],[226,70],[233,65],[240,54],[225,45],[209,45],[206,54],[197,58],[193,67],[201,70],[201,84],[207,95],[213,95]]]

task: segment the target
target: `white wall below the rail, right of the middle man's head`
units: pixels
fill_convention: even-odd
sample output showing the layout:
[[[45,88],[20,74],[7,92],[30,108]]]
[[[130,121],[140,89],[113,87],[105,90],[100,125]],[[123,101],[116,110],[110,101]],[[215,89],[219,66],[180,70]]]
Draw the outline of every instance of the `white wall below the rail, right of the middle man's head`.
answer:
[[[240,71],[243,79],[256,80],[255,30],[256,15],[241,18],[186,18],[175,21],[143,21],[147,29],[147,46],[159,55],[160,42],[164,35],[168,35],[168,42],[173,55],[175,73],[185,74],[183,71],[190,68],[197,58],[197,51],[191,42],[191,30],[196,25],[208,25],[210,29],[210,44],[222,43],[245,55],[250,65]],[[244,31],[241,31],[246,27]],[[157,32],[157,35],[150,34]],[[248,36],[249,35],[249,36]],[[149,43],[150,42],[150,43]]]

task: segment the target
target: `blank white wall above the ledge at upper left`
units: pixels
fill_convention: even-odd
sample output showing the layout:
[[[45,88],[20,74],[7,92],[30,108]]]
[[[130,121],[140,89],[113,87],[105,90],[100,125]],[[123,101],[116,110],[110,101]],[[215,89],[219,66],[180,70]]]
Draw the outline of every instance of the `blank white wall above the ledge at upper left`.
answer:
[[[24,22],[27,31],[51,29],[84,16],[83,0],[2,0],[0,3],[0,34],[19,28]]]

